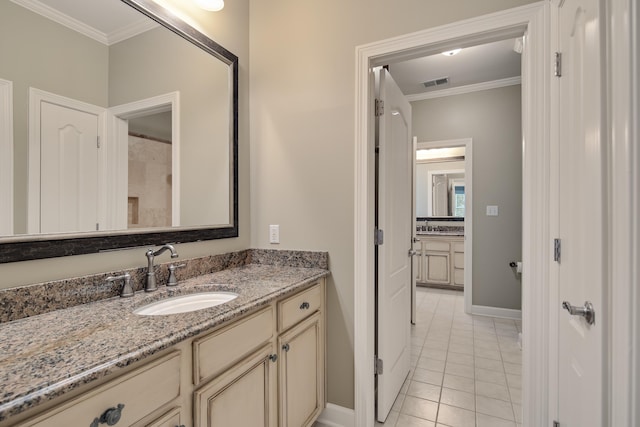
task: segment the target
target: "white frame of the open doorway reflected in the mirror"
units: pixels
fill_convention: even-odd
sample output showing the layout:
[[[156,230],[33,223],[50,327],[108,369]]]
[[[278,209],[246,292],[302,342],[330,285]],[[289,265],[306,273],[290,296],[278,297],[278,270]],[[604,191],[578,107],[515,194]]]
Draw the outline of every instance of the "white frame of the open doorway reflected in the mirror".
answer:
[[[128,176],[128,138],[120,141],[118,137],[120,122],[150,114],[171,111],[171,225],[180,225],[180,92],[169,92],[151,98],[109,108],[109,134],[113,141],[111,157],[116,159],[112,167],[118,177],[116,191],[111,194],[116,218],[123,218],[126,228],[127,217],[127,176]]]

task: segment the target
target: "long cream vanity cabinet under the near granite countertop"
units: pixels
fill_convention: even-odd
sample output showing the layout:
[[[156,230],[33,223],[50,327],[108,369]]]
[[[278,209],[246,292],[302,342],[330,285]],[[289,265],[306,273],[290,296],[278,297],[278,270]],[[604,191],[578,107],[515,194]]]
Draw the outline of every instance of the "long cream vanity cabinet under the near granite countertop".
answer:
[[[52,401],[22,424],[0,426],[311,426],[326,402],[324,301],[320,279],[64,403]],[[100,419],[114,411],[121,411],[117,422]]]

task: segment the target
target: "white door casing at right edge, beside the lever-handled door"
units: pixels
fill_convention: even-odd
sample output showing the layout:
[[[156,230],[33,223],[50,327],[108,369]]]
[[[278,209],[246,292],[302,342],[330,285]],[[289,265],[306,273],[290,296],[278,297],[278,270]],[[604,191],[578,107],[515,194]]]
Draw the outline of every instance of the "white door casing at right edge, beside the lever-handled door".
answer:
[[[606,8],[607,111],[610,139],[608,413],[611,426],[640,425],[640,7]]]

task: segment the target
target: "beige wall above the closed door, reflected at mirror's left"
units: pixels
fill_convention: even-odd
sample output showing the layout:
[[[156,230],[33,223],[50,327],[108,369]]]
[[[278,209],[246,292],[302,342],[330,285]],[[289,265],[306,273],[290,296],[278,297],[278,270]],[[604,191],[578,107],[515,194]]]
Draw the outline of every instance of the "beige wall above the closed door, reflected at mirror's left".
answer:
[[[77,61],[81,57],[83,61]],[[0,78],[13,82],[14,230],[27,230],[29,88],[105,107],[107,47],[0,1]],[[70,65],[73,64],[73,65]]]

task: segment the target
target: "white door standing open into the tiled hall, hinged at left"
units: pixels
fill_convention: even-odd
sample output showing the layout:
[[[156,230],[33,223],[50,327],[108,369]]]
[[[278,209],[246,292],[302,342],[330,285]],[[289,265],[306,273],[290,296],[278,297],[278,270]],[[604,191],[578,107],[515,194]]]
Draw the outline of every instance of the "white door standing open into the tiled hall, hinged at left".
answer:
[[[411,325],[412,161],[411,105],[384,69],[376,71],[379,117],[377,417],[384,421],[409,373]]]

